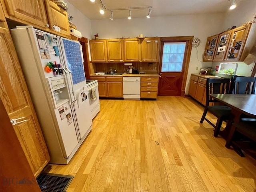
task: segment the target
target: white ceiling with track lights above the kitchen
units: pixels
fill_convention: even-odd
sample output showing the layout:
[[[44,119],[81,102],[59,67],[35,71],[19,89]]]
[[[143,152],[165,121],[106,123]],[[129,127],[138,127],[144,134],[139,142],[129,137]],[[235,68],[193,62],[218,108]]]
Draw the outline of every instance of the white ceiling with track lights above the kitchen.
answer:
[[[173,16],[187,14],[224,13],[233,0],[102,0],[106,7],[105,13],[100,14],[102,6],[100,0],[67,0],[76,9],[80,10],[90,20],[110,18],[110,10],[118,8],[150,7],[151,17]],[[239,3],[240,0],[236,0]],[[132,9],[132,18],[146,17],[149,9]],[[127,18],[129,10],[114,10],[113,18]]]

